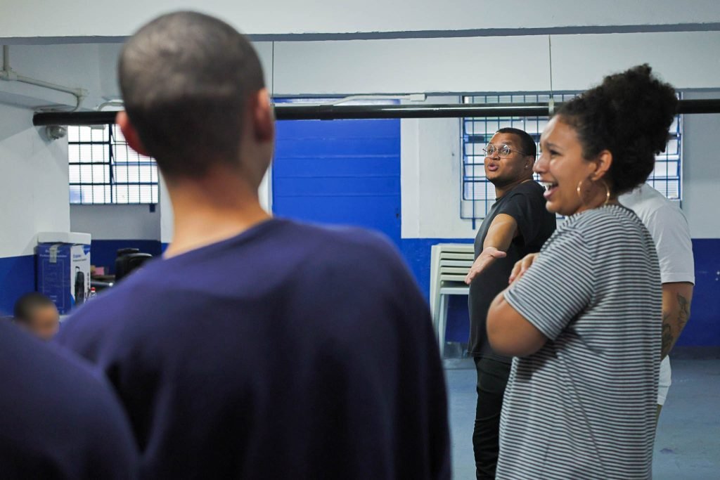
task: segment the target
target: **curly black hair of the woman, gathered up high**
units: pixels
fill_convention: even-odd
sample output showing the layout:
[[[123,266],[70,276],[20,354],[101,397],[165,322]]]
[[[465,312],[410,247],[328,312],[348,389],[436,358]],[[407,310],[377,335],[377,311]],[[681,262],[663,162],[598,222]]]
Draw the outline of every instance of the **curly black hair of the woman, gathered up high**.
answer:
[[[603,83],[563,104],[557,115],[575,128],[582,156],[613,155],[606,180],[615,195],[647,180],[655,155],[665,151],[675,118],[675,89],[652,75],[647,63],[606,76]]]

